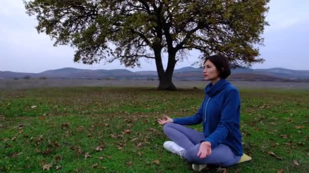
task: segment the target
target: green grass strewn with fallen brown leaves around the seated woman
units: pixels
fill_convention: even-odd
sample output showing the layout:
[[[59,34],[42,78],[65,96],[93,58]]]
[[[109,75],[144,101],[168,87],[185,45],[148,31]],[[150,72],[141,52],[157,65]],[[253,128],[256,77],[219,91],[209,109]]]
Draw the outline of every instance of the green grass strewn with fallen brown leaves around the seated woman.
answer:
[[[253,160],[227,170],[308,172],[309,92],[241,89],[240,95],[243,148]],[[168,139],[156,119],[194,114],[203,97],[203,90],[151,88],[0,91],[0,171],[39,172],[52,163],[49,171],[57,172],[190,172],[163,149]]]

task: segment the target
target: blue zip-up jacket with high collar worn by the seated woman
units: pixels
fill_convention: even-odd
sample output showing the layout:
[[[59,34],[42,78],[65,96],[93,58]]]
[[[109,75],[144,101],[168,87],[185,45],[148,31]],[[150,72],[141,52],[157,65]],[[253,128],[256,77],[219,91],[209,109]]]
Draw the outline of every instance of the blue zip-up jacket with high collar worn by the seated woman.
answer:
[[[203,141],[210,142],[212,149],[225,144],[236,156],[242,156],[238,90],[230,82],[220,79],[214,85],[210,82],[205,88],[205,94],[202,106],[195,115],[174,118],[173,122],[181,125],[203,122]]]

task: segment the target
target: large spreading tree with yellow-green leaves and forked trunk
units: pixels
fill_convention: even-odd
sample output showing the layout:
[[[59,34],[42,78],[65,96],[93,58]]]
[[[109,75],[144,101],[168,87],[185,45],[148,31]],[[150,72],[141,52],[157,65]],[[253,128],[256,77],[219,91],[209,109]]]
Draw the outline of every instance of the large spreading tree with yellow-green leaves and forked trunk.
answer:
[[[34,0],[24,1],[36,16],[38,32],[56,45],[76,49],[75,62],[140,66],[156,61],[160,90],[175,90],[177,61],[191,50],[200,59],[223,54],[230,63],[250,66],[258,58],[267,25],[269,0]],[[168,57],[167,68],[162,55]]]

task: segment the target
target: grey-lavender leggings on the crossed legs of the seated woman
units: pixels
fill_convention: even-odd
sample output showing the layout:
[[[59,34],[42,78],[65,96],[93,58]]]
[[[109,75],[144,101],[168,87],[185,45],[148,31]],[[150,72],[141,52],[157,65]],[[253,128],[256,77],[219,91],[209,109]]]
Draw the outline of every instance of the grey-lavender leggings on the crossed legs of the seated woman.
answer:
[[[175,123],[166,123],[163,130],[170,140],[184,148],[182,157],[188,162],[227,167],[237,163],[241,158],[241,156],[235,156],[227,145],[220,144],[211,150],[211,155],[201,159],[197,153],[201,141],[205,139],[203,133]]]

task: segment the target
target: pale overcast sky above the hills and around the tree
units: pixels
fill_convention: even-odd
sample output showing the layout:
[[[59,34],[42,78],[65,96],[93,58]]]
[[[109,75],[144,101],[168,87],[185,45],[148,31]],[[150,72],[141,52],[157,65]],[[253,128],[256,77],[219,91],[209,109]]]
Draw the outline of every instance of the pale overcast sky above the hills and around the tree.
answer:
[[[309,70],[309,1],[271,0],[260,49],[263,64],[252,68],[282,67]],[[74,50],[69,46],[53,47],[49,36],[38,34],[34,17],[25,14],[22,0],[2,0],[0,6],[0,71],[42,72],[74,67],[82,69],[124,69],[119,62],[85,65],[73,62]],[[190,66],[198,54],[176,64],[176,69]],[[166,61],[166,59],[165,59]],[[166,65],[166,63],[164,63]],[[154,61],[142,62],[131,71],[156,70]]]

